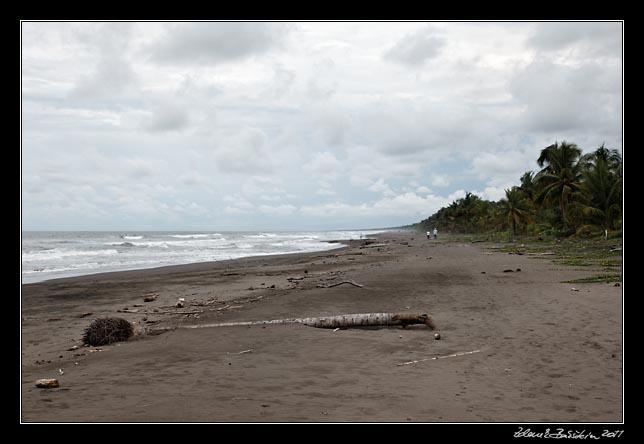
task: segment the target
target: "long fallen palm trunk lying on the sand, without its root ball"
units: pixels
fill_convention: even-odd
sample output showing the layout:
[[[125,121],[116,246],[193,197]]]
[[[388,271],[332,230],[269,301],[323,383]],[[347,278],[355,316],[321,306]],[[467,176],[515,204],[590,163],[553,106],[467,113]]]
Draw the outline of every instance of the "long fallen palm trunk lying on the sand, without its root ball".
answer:
[[[240,327],[248,325],[269,324],[304,324],[316,328],[353,328],[353,327],[387,327],[400,325],[424,324],[431,330],[436,329],[434,320],[427,314],[417,313],[358,313],[315,318],[274,319],[270,321],[224,322],[218,324],[181,325],[179,327],[161,327],[155,330],[174,330],[175,328],[211,328]]]

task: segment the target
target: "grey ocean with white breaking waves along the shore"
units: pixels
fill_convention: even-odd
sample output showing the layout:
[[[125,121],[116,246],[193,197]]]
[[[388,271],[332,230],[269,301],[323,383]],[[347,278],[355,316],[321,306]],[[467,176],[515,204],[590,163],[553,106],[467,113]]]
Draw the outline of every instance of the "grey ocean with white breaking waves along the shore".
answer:
[[[331,250],[382,232],[23,231],[22,283],[268,254]]]

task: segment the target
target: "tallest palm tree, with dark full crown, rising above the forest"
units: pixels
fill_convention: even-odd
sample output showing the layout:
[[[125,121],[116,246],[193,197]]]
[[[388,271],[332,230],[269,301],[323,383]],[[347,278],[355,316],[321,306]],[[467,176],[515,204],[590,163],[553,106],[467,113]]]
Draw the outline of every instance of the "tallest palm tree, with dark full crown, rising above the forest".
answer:
[[[567,226],[566,207],[573,193],[581,187],[581,149],[574,143],[555,142],[543,150],[537,163],[542,167],[536,179],[540,191],[537,200],[556,203],[559,207],[561,223]]]

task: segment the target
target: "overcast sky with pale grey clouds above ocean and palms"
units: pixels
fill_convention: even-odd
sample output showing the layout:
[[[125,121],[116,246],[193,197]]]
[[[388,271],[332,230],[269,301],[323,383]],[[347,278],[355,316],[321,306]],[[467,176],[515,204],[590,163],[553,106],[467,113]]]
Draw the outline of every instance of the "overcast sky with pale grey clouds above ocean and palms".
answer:
[[[23,230],[335,230],[622,151],[621,22],[23,22]]]

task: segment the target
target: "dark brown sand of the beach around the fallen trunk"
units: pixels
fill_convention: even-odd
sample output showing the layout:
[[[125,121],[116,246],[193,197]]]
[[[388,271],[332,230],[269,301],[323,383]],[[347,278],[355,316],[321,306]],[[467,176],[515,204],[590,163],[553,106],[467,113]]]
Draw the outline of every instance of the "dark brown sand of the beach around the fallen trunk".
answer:
[[[379,243],[23,285],[22,421],[623,420],[622,287],[561,283],[596,270],[490,253],[489,244],[411,233]],[[305,279],[287,281],[294,276]],[[364,288],[316,288],[341,279]],[[149,292],[160,296],[144,303]],[[183,309],[173,308],[179,297]],[[139,313],[117,313],[125,307]],[[153,328],[401,311],[429,313],[442,339],[424,326],[291,324],[178,329],[95,352],[80,343],[102,316]],[[39,378],[60,388],[36,388]]]

